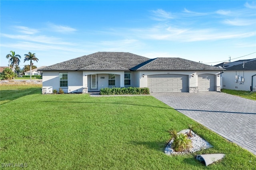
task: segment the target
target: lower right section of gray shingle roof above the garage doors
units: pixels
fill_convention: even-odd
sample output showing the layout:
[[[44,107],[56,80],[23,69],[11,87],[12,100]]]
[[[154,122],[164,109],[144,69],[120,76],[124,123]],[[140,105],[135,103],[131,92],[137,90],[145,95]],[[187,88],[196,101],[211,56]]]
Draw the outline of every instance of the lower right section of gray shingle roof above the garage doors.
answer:
[[[181,59],[181,58],[156,58],[137,70],[224,70],[216,66]]]

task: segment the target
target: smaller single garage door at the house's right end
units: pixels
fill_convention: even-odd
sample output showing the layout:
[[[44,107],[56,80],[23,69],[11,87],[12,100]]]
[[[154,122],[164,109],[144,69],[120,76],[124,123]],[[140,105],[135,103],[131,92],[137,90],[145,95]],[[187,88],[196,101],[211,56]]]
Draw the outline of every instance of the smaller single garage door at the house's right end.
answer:
[[[216,76],[214,74],[198,75],[198,92],[216,91]]]

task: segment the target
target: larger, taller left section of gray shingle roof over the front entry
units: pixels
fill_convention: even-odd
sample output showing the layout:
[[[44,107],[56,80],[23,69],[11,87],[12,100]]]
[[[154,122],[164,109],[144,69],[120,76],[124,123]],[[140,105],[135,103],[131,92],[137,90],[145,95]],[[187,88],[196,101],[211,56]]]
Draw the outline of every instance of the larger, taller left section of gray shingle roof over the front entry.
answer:
[[[132,53],[97,52],[54,64],[42,70],[129,70],[148,60],[146,57]]]

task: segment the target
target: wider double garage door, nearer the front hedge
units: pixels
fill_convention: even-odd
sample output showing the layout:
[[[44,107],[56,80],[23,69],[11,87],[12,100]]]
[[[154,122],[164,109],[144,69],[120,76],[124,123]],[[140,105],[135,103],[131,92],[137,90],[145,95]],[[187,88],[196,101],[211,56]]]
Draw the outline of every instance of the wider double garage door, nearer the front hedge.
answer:
[[[149,75],[148,88],[150,92],[188,92],[188,75]]]

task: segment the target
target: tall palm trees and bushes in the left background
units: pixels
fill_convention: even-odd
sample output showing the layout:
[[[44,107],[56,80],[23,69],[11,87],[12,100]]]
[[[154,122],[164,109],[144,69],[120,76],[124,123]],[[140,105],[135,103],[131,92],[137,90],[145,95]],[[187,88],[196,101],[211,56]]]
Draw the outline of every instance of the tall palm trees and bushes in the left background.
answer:
[[[30,70],[30,79],[32,77],[32,72],[31,70],[36,68],[34,66],[32,61],[38,62],[38,58],[36,58],[35,53],[28,52],[28,54],[24,54],[24,63],[26,61],[29,61],[29,65],[24,65],[23,70],[20,69],[19,64],[20,64],[20,55],[16,54],[15,51],[10,51],[10,54],[6,55],[6,58],[9,60],[9,68],[4,68],[2,72],[2,78],[10,80],[11,78],[14,78],[17,76],[17,73],[20,72],[26,72],[28,69]],[[29,67],[29,68],[28,68]]]

